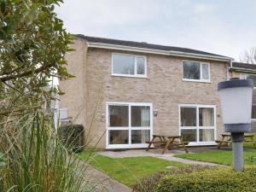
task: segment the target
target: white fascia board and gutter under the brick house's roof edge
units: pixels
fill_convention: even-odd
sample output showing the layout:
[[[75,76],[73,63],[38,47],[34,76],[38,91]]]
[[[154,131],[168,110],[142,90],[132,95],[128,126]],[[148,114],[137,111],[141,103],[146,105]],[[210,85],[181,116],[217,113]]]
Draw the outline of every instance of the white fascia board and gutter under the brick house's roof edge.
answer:
[[[185,52],[172,51],[172,50],[147,49],[147,48],[137,48],[137,47],[131,47],[131,46],[117,45],[117,44],[101,44],[101,43],[90,43],[90,42],[88,42],[87,44],[88,44],[88,47],[90,48],[127,50],[127,51],[136,51],[141,53],[150,53],[150,54],[157,54],[157,55],[173,55],[173,56],[183,56],[183,57],[197,58],[197,59],[209,59],[213,61],[232,60],[232,58],[230,57],[192,54],[192,53],[185,53]]]

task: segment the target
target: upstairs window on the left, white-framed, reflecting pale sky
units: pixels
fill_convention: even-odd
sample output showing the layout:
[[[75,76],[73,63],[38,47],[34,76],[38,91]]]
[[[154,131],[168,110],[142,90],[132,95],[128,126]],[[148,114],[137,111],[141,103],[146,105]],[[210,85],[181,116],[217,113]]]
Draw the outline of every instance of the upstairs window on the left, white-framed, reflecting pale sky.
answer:
[[[112,54],[112,75],[123,77],[146,78],[146,56]]]

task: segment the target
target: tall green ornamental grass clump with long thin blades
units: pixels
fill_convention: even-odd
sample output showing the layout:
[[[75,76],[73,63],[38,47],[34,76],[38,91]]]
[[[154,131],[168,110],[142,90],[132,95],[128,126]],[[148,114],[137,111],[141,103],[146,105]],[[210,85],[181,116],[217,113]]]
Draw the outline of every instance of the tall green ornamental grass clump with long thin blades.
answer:
[[[56,137],[50,116],[36,111],[0,125],[0,191],[90,191],[86,166]]]

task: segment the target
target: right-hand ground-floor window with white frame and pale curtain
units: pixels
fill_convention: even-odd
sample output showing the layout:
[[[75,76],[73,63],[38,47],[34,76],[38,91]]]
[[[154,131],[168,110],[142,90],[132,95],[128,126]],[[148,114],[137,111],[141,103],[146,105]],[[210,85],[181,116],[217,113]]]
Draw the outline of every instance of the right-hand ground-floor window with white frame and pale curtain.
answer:
[[[216,107],[179,105],[179,133],[189,145],[216,144]]]

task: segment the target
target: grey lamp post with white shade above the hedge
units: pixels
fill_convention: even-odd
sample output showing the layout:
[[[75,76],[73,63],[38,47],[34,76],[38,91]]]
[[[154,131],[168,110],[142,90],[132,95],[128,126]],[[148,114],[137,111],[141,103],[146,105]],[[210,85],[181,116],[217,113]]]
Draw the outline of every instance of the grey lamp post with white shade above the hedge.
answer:
[[[251,131],[253,80],[230,79],[218,83],[224,131],[232,137],[235,171],[243,171],[244,132]]]

